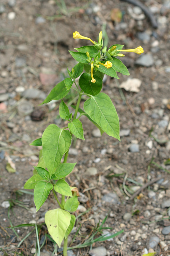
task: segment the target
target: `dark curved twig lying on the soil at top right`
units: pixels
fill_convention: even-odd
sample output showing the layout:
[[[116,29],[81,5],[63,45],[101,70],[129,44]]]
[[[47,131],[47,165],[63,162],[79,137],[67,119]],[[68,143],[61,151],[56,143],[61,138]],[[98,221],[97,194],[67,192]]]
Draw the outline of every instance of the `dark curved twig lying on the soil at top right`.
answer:
[[[138,0],[121,0],[121,1],[125,1],[125,2],[128,2],[130,4],[140,7],[142,9],[142,11],[146,14],[146,16],[150,19],[152,27],[158,28],[158,23],[157,23],[155,17],[153,16],[152,12],[150,12],[149,9],[144,4],[142,4]]]

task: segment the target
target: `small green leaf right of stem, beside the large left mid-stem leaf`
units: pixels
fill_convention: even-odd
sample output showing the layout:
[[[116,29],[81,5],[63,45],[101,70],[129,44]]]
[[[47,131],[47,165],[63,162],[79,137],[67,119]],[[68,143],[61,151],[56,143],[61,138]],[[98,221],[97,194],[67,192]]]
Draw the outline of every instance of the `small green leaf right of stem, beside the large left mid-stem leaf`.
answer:
[[[75,137],[84,140],[83,127],[79,119],[74,119],[72,122],[68,123],[68,128]]]

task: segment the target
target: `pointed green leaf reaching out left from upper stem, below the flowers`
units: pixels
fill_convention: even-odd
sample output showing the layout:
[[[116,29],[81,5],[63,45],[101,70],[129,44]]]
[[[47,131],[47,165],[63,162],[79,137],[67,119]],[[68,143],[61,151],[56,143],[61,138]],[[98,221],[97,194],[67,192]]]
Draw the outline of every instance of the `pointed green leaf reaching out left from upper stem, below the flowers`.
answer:
[[[68,92],[69,90],[67,91],[66,85],[63,80],[59,84],[56,84],[56,86],[51,90],[46,99],[39,105],[48,103],[51,100],[61,100],[68,94]]]

